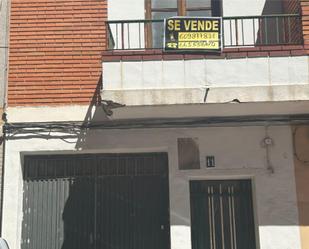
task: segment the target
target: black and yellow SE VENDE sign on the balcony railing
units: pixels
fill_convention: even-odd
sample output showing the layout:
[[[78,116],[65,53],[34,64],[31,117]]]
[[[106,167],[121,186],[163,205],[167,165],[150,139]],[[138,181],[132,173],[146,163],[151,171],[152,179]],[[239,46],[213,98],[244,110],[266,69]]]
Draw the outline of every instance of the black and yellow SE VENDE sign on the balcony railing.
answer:
[[[221,51],[221,18],[165,20],[165,50]]]

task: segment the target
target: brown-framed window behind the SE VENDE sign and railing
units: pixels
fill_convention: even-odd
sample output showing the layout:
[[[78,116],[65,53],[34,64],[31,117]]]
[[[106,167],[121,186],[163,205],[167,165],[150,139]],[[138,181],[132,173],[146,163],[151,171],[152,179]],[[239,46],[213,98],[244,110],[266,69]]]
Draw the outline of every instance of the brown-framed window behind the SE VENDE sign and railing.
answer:
[[[172,16],[221,16],[221,0],[145,0],[146,19]],[[162,48],[163,25],[146,25],[146,47]]]

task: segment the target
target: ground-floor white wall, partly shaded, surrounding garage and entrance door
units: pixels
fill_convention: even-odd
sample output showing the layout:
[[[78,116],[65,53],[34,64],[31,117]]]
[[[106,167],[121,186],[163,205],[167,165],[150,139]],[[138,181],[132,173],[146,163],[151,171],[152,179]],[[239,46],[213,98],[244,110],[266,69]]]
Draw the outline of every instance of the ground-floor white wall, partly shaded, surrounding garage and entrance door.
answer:
[[[6,145],[3,236],[12,249],[20,248],[22,222],[21,153],[153,152],[169,154],[172,249],[190,249],[190,179],[251,178],[260,249],[300,249],[291,131],[288,126],[269,127],[274,140],[266,170],[261,141],[264,127],[190,128],[90,131],[76,148],[76,139],[10,140]],[[200,170],[179,171],[177,138],[197,137]],[[121,141],[121,143],[119,143]],[[68,143],[71,142],[71,143]],[[206,169],[206,155],[216,157],[217,168]]]

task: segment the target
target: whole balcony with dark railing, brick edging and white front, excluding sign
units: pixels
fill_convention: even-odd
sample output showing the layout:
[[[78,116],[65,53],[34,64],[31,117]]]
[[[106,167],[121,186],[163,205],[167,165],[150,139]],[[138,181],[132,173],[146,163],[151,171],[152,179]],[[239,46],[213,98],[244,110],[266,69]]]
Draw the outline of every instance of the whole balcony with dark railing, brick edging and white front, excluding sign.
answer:
[[[223,17],[221,53],[165,51],[163,20],[108,21],[102,98],[127,106],[309,100],[302,18]]]

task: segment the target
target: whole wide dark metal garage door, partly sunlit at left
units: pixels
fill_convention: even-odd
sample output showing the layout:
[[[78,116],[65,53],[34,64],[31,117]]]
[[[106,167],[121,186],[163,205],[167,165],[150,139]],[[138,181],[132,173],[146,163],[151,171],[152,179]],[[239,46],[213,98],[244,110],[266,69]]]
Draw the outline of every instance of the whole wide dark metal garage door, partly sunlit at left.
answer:
[[[168,249],[165,153],[26,156],[22,249]]]

